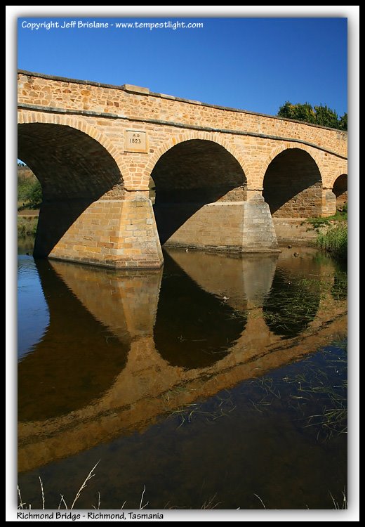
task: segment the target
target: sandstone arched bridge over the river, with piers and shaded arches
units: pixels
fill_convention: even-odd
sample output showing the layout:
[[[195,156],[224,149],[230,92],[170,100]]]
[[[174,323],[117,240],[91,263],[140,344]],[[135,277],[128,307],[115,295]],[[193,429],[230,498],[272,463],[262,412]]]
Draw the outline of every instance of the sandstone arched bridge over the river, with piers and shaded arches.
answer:
[[[159,267],[161,245],[274,251],[272,217],[347,192],[343,131],[25,71],[18,157],[43,189],[34,255],[112,268]]]

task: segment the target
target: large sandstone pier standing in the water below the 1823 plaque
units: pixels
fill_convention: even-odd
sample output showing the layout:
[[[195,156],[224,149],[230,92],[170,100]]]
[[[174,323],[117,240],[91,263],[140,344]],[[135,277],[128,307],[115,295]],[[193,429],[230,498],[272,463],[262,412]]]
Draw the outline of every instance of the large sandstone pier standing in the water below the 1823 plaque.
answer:
[[[66,215],[69,205],[44,205],[34,256],[81,261],[111,268],[155,268],[163,262],[152,204],[147,197],[91,203],[54,245],[44,247],[54,214]],[[51,220],[51,221],[50,221]]]

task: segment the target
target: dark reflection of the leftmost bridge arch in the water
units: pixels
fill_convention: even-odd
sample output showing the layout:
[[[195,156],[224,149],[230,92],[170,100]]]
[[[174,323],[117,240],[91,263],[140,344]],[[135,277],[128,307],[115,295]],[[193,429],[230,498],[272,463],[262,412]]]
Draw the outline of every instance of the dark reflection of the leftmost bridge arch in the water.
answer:
[[[98,398],[126,365],[128,334],[115,339],[46,260],[36,261],[49,325],[18,365],[18,419],[67,414]],[[84,285],[85,287],[85,285]]]

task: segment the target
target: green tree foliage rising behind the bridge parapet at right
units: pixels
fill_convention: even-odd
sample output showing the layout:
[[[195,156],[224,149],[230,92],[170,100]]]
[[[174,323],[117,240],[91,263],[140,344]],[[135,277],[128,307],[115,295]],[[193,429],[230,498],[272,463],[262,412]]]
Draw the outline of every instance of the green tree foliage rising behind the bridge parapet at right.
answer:
[[[313,108],[310,103],[292,104],[287,100],[284,105],[280,106],[277,116],[328,126],[328,128],[336,128],[338,130],[347,130],[347,113],[342,117],[338,117],[337,113],[328,108],[327,105],[314,106]]]

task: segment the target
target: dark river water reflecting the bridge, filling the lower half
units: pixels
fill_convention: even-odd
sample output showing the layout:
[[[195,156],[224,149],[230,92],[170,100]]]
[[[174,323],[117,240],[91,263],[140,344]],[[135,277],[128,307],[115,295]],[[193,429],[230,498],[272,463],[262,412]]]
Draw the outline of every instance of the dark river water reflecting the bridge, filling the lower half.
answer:
[[[293,253],[297,250],[300,256]],[[23,502],[333,509],[347,486],[347,274],[312,249],[169,249],[162,271],[18,259]],[[260,497],[260,499],[259,499]]]

